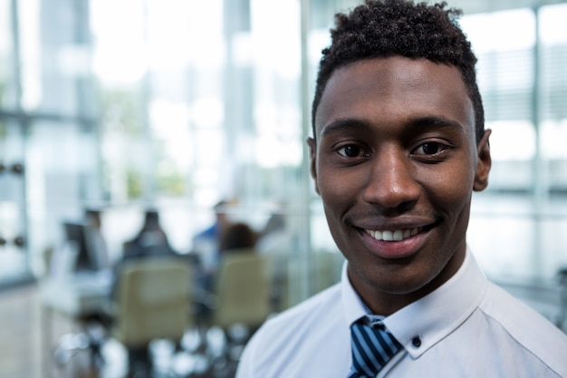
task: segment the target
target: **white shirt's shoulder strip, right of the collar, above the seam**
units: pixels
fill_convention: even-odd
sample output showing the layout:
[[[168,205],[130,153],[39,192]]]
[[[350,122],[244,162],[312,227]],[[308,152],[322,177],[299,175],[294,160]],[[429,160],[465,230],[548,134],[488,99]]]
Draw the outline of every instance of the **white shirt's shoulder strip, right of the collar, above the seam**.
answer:
[[[554,372],[567,375],[567,334],[532,307],[491,284],[480,309],[513,343]]]

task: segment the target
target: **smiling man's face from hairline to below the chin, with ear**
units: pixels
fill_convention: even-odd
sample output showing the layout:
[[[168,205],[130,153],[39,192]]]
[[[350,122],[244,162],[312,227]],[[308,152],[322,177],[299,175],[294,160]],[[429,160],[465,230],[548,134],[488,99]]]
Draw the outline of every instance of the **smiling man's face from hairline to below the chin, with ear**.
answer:
[[[332,74],[309,141],[312,177],[370,307],[382,294],[411,302],[462,263],[472,191],[490,169],[490,132],[477,146],[474,124],[456,67],[392,57]]]

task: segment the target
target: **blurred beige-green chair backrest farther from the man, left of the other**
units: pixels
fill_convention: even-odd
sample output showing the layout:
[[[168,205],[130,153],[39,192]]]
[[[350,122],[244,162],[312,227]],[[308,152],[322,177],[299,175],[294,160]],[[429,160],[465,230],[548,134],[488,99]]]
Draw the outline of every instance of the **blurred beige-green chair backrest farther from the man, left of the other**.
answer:
[[[191,268],[178,257],[131,260],[120,269],[113,335],[127,347],[179,340],[190,325]]]

